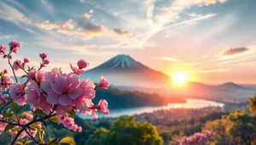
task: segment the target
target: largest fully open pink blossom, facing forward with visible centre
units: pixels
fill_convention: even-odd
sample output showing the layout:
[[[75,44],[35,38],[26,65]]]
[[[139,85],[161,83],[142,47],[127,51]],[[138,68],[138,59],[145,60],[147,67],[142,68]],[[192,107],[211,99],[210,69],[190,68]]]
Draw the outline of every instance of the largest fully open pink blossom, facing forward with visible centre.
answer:
[[[79,87],[79,75],[62,74],[61,71],[56,70],[53,69],[48,72],[45,75],[45,81],[41,84],[44,92],[48,93],[46,100],[48,103],[59,103],[63,106],[70,105],[83,93],[83,89]],[[52,75],[55,75],[55,77],[52,77]]]

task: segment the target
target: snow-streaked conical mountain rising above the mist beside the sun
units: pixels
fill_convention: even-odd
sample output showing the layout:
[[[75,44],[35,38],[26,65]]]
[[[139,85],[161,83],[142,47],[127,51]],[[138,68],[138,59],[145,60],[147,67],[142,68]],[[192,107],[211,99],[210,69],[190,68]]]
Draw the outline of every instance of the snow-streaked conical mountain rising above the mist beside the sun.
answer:
[[[114,85],[163,87],[171,82],[169,75],[152,70],[125,54],[117,55],[80,76],[98,81],[101,75]]]

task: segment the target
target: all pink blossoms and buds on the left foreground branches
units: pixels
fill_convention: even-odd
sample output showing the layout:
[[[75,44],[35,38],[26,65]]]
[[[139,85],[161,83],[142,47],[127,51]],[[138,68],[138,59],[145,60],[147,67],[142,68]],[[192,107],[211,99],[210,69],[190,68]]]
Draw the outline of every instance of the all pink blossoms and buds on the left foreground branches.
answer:
[[[18,53],[21,45],[19,42],[9,42],[9,53],[6,52],[6,47],[0,46],[0,55],[3,58],[12,59],[12,53]],[[8,99],[14,101],[18,105],[28,104],[32,110],[41,109],[44,114],[56,115],[61,123],[70,130],[82,131],[82,127],[76,125],[72,118],[72,113],[80,112],[83,115],[89,114],[90,116],[97,118],[97,110],[100,110],[102,114],[109,114],[108,102],[101,99],[96,105],[93,103],[93,98],[96,96],[96,89],[104,88],[108,89],[109,81],[105,77],[100,78],[98,86],[89,79],[82,80],[79,75],[84,73],[84,69],[89,65],[84,59],[79,59],[78,67],[70,64],[73,72],[63,73],[61,69],[55,68],[49,72],[41,70],[46,64],[49,64],[48,54],[40,53],[39,57],[42,59],[38,69],[29,67],[30,59],[24,58],[23,61],[17,59],[14,64],[11,65],[11,69],[15,71],[23,70],[26,82],[19,82],[15,78],[16,82],[9,77],[7,70],[0,72],[0,103],[7,103]],[[3,91],[9,89],[9,95],[3,95]],[[75,112],[74,112],[75,111]],[[3,116],[0,116],[0,120]],[[20,120],[15,120],[15,123],[20,125],[26,125],[30,121],[34,120],[32,113],[23,114]],[[0,121],[0,134],[4,130],[6,123]],[[41,125],[39,123],[38,125]],[[12,135],[16,129],[20,126],[16,125],[9,130]],[[35,137],[37,130],[27,130],[32,137]],[[20,134],[19,138],[26,137],[26,131]]]

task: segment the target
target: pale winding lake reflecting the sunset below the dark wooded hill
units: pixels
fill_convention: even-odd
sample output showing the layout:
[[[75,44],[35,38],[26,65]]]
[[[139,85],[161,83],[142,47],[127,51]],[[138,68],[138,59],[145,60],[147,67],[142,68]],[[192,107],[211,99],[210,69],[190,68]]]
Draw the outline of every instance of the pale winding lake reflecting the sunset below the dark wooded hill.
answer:
[[[119,117],[121,115],[132,115],[132,114],[143,114],[143,113],[151,113],[158,109],[202,109],[209,106],[212,107],[224,107],[224,103],[217,103],[214,101],[208,101],[204,99],[194,99],[188,98],[186,99],[187,103],[168,103],[166,106],[154,106],[154,107],[136,107],[136,108],[125,108],[125,109],[110,109],[110,113],[108,115],[104,115],[99,113],[99,117]],[[90,119],[90,116],[81,116],[84,119]]]

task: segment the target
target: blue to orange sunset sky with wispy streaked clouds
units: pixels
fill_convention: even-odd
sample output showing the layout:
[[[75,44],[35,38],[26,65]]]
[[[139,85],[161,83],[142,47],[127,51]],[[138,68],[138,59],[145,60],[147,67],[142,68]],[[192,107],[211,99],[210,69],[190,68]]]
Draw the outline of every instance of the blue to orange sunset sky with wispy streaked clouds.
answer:
[[[255,14],[255,0],[1,0],[0,44],[21,42],[14,59],[32,65],[48,53],[46,70],[128,54],[189,81],[256,84]]]

